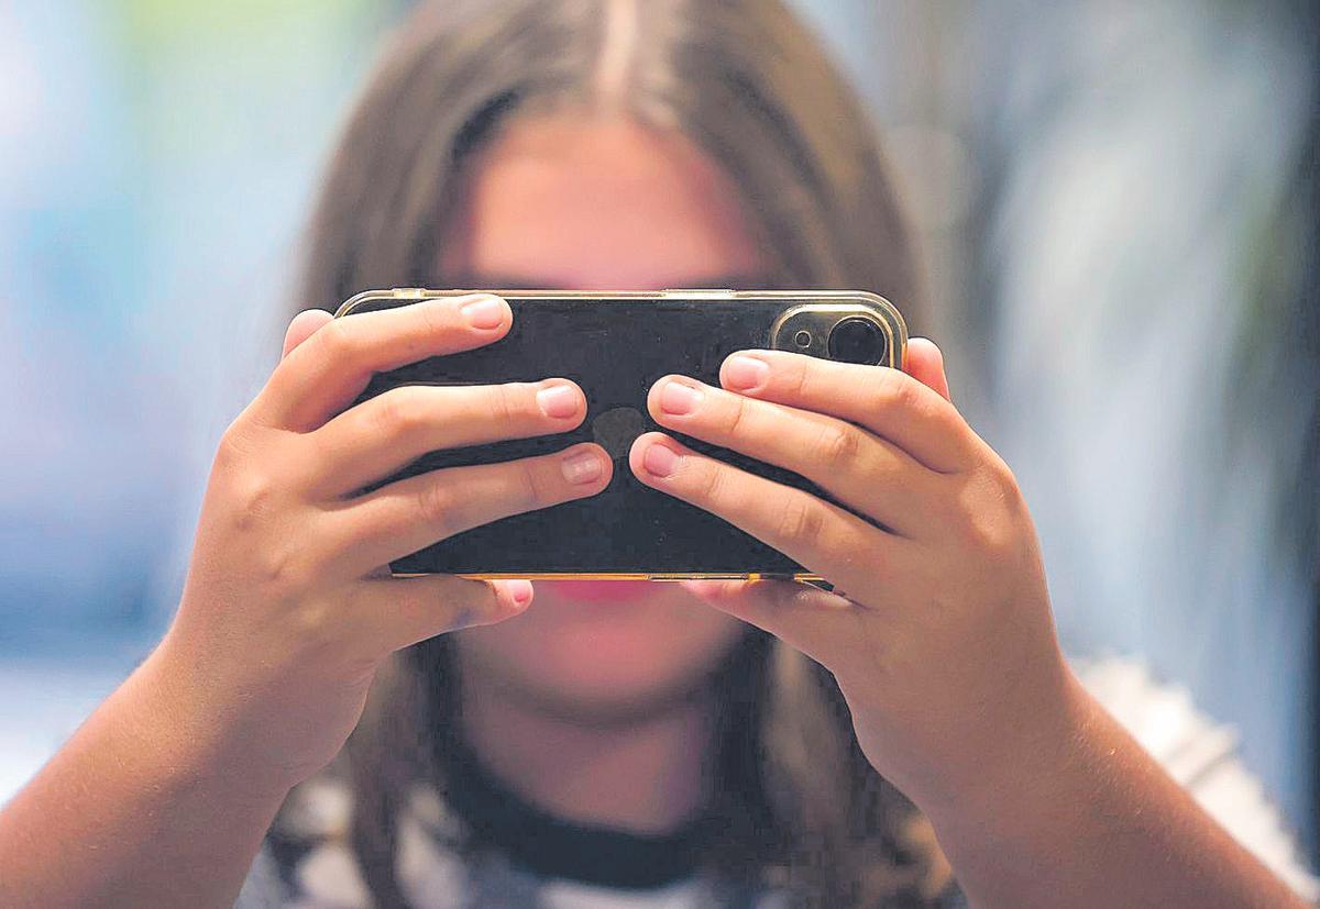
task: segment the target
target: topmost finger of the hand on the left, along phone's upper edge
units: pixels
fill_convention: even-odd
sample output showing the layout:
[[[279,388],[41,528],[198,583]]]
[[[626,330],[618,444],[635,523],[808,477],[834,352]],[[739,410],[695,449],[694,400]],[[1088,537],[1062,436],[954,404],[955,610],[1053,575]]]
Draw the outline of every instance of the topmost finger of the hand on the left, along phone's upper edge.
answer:
[[[253,414],[269,426],[310,431],[352,404],[372,373],[490,344],[511,321],[508,303],[491,294],[433,297],[337,318],[280,361]]]

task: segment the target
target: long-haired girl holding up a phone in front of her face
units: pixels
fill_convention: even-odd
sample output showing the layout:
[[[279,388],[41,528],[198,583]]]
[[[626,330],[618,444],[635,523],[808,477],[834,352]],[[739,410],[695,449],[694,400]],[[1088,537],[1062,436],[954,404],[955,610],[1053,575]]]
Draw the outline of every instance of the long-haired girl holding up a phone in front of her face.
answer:
[[[892,533],[665,433],[355,493],[586,416],[556,376],[346,409],[511,325],[479,294],[331,322],[356,290],[865,288],[920,329],[915,272],[857,102],[776,3],[421,9],[325,185],[325,309],[224,433],[165,639],[7,809],[0,901],[1290,905],[1064,662],[1016,483],[929,342],[909,375],[748,351],[649,391]],[[836,592],[389,577],[620,470]]]

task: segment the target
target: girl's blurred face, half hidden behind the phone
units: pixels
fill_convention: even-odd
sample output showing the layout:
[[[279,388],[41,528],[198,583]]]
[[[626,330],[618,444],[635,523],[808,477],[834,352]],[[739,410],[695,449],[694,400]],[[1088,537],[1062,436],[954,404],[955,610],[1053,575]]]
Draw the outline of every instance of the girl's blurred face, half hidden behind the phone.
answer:
[[[755,286],[768,272],[733,187],[678,136],[615,119],[528,119],[482,153],[470,179],[440,253],[458,286]],[[462,673],[583,722],[690,694],[746,632],[672,583],[535,584],[527,612],[455,635]]]

